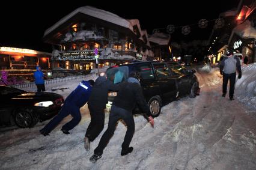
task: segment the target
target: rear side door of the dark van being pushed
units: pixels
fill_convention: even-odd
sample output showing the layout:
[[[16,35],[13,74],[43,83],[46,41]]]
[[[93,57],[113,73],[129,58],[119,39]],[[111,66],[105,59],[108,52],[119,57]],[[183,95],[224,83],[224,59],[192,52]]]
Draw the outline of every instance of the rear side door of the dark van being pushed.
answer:
[[[171,76],[168,64],[165,62],[153,62],[154,74],[160,89],[160,97],[163,101],[172,101],[177,94],[176,80]]]

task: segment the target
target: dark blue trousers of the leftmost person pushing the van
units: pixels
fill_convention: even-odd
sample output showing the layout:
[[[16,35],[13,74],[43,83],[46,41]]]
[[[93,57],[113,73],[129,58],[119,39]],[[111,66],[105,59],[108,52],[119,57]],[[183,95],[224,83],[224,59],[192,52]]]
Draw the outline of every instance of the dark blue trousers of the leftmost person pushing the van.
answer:
[[[65,102],[59,111],[58,115],[56,115],[44,128],[43,132],[50,133],[64,118],[68,115],[72,115],[72,120],[62,126],[64,130],[73,129],[78,123],[81,121],[81,113],[80,108],[78,106],[73,105],[72,103]]]

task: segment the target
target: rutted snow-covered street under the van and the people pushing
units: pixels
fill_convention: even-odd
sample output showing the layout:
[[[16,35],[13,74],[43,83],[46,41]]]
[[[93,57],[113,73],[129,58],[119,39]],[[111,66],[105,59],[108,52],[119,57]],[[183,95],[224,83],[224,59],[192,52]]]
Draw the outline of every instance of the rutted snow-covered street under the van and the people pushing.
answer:
[[[71,135],[60,131],[65,121],[45,137],[38,130],[48,121],[32,129],[1,133],[0,169],[256,169],[256,64],[243,66],[234,101],[221,97],[218,68],[206,67],[196,73],[200,96],[184,97],[163,106],[162,113],[154,118],[154,129],[143,117],[135,117],[130,144],[134,150],[127,156],[120,155],[126,127],[119,122],[102,158],[90,162],[108,125],[108,114],[105,129],[91,142],[91,150],[85,151],[83,138],[90,116],[82,110],[83,119],[70,131]],[[55,92],[67,96],[78,82],[56,85],[70,88]]]

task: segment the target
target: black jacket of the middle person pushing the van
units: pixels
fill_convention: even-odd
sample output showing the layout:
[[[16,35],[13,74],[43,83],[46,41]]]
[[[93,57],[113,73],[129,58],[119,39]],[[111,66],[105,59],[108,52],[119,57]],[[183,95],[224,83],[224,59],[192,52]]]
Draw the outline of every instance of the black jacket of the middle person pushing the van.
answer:
[[[98,109],[106,108],[106,103],[108,103],[108,91],[118,91],[119,87],[120,85],[112,83],[110,80],[107,80],[106,77],[98,77],[93,85],[88,105]]]

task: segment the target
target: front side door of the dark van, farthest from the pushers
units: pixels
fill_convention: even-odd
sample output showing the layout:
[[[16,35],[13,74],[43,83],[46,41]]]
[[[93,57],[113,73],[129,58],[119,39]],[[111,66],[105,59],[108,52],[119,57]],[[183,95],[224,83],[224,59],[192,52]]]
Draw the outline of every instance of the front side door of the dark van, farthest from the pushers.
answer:
[[[191,88],[192,74],[182,65],[169,65],[172,77],[177,80],[178,96],[189,94]]]

